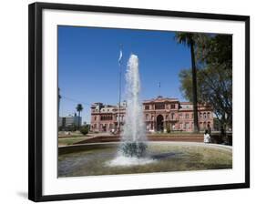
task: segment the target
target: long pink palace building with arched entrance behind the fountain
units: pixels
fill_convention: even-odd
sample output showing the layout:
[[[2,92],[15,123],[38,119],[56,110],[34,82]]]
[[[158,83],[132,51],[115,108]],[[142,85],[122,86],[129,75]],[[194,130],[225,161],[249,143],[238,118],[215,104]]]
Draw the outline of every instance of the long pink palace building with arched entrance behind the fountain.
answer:
[[[148,132],[193,131],[193,105],[176,98],[157,97],[143,102],[143,113]],[[213,128],[213,110],[209,105],[198,105],[200,130]],[[118,117],[120,115],[120,117]],[[118,106],[95,103],[91,106],[91,126],[94,132],[108,132],[125,123],[126,103]],[[118,120],[119,119],[119,120]]]

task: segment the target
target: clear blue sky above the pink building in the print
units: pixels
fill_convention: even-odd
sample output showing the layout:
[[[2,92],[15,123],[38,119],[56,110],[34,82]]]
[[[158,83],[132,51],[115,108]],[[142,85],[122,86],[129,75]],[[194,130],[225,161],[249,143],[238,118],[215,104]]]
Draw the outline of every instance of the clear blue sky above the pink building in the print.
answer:
[[[141,99],[160,94],[184,101],[179,71],[190,67],[189,48],[178,45],[173,32],[58,26],[60,116],[74,114],[77,103],[81,103],[83,121],[89,123],[90,104],[118,103],[120,44],[123,91],[128,57],[133,53],[139,59]]]

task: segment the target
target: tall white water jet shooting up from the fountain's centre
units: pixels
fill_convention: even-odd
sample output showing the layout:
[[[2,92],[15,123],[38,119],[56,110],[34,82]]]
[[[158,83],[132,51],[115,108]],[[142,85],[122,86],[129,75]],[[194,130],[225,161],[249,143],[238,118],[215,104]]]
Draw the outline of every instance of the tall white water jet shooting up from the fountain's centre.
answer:
[[[146,154],[147,137],[139,91],[138,56],[131,55],[126,73],[126,122],[119,146],[119,153],[125,157],[141,158]]]

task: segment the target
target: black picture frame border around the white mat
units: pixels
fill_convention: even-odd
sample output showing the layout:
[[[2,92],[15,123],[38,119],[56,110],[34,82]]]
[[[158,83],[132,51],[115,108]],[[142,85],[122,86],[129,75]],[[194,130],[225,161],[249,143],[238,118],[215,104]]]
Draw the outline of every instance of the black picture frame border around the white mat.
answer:
[[[92,11],[112,14],[129,15],[159,15],[174,16],[197,19],[230,20],[241,21],[245,23],[245,182],[189,186],[179,188],[161,188],[161,189],[132,189],[104,192],[90,192],[63,195],[42,194],[42,11],[44,9],[57,9],[68,11]],[[28,68],[29,68],[29,141],[28,141],[28,199],[34,201],[64,200],[64,199],[93,199],[106,197],[121,197],[147,194],[175,193],[202,190],[217,189],[243,189],[250,188],[250,16],[246,15],[219,15],[191,12],[178,12],[167,10],[148,10],[125,7],[108,7],[94,5],[67,5],[34,3],[29,5],[28,13]]]

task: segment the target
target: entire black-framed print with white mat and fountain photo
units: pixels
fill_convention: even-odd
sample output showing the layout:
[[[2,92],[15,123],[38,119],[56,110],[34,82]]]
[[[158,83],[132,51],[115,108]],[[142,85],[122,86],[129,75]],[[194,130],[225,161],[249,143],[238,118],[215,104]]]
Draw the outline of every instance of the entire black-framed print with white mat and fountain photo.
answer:
[[[29,199],[250,187],[250,17],[29,5]]]

